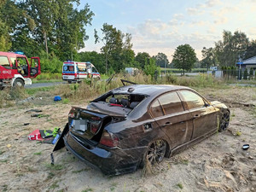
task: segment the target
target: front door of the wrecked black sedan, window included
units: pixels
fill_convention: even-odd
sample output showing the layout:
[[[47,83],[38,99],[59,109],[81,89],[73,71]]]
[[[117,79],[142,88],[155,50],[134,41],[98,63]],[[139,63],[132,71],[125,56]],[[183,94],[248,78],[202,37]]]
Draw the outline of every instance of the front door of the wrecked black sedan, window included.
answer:
[[[179,94],[193,119],[192,140],[217,131],[217,110],[214,107],[192,90],[179,90]]]

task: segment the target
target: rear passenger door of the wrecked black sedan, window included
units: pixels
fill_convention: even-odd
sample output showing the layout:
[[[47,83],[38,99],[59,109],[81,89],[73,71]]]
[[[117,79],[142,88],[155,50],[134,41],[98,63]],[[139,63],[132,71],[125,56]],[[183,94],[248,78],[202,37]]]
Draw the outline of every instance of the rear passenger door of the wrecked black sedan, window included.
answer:
[[[189,111],[185,111],[176,91],[165,93],[149,108],[154,120],[172,142],[172,148],[190,141],[193,124]]]

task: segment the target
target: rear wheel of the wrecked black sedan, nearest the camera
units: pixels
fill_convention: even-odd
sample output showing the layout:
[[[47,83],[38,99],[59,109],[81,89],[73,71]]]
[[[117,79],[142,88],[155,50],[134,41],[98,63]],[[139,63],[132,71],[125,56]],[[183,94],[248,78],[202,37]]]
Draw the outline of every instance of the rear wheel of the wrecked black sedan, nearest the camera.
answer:
[[[154,166],[156,163],[160,163],[164,160],[166,155],[167,144],[164,140],[159,139],[154,141],[148,146],[148,151],[146,154],[146,160]]]

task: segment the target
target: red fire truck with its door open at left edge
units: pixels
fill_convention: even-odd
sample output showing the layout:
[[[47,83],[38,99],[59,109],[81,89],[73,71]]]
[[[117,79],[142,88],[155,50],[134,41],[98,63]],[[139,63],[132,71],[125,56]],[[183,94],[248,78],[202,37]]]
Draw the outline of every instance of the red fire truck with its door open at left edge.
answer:
[[[39,57],[32,57],[29,64],[22,52],[0,51],[0,90],[7,86],[32,84],[31,78],[41,73]]]

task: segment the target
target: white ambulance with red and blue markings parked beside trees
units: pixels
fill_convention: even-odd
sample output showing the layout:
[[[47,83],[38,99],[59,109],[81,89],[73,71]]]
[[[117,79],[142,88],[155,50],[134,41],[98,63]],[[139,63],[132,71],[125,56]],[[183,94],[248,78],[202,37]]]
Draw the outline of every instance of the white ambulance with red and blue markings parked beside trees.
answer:
[[[80,82],[87,78],[101,79],[96,67],[90,62],[66,61],[63,62],[62,79],[69,84]]]

